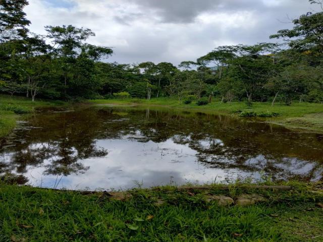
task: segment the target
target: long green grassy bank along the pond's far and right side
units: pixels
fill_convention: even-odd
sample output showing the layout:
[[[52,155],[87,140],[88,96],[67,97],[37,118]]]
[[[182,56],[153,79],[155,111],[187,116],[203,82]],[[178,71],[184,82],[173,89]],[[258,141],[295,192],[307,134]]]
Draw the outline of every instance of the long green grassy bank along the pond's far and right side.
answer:
[[[278,113],[278,116],[261,118],[260,120],[269,123],[283,125],[291,129],[306,129],[308,131],[323,133],[323,105],[318,103],[293,103],[291,106],[276,103],[273,107],[271,103],[255,102],[252,106],[247,106],[244,102],[221,103],[212,101],[203,106],[196,103],[184,104],[183,101],[171,98],[145,99],[108,99],[89,100],[91,104],[116,104],[116,105],[143,105],[143,106],[168,106],[172,108],[185,108],[214,113],[227,113],[235,116],[241,112],[253,112],[257,115]]]

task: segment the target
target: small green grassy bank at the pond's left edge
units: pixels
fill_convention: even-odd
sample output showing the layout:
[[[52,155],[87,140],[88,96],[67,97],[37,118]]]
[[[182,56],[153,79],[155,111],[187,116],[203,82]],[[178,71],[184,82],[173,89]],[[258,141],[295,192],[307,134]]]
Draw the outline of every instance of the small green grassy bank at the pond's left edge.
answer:
[[[38,100],[32,102],[30,98],[0,95],[0,139],[6,137],[16,127],[19,115],[31,113],[37,107],[64,104],[62,101]]]

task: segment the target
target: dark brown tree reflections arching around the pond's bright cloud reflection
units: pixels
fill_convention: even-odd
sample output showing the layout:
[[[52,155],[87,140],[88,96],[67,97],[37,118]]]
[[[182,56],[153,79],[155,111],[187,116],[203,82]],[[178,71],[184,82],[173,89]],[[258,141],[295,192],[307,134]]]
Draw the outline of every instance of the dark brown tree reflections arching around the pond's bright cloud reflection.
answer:
[[[290,132],[282,127],[240,122],[228,116],[110,107],[82,108],[75,112],[45,113],[30,117],[42,129],[16,132],[8,170],[18,174],[28,166],[45,167],[45,174],[85,172],[81,160],[102,157],[100,139],[132,139],[188,145],[198,161],[209,167],[265,171],[274,177],[322,177],[323,143],[315,134]]]

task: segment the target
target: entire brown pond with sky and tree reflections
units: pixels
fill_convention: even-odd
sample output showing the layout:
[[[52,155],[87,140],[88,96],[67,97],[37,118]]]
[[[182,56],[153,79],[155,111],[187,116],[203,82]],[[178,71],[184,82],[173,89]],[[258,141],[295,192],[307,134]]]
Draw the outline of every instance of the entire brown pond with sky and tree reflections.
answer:
[[[180,109],[42,109],[0,147],[0,173],[73,190],[319,180],[323,135]]]

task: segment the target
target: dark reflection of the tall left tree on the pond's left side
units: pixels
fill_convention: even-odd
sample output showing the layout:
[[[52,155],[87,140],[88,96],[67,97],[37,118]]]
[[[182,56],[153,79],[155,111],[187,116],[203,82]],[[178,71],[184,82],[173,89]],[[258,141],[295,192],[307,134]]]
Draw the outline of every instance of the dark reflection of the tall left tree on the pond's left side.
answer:
[[[7,170],[10,167],[12,171],[24,174],[28,166],[42,165],[45,175],[84,173],[89,167],[81,160],[105,156],[107,151],[95,145],[95,118],[87,119],[82,126],[79,126],[81,122],[74,126],[70,118],[59,113],[48,114],[48,118],[31,117],[29,122],[34,127],[45,128],[25,128],[16,132],[16,146],[10,147],[10,161],[4,163]],[[1,173],[6,171],[2,169]]]

